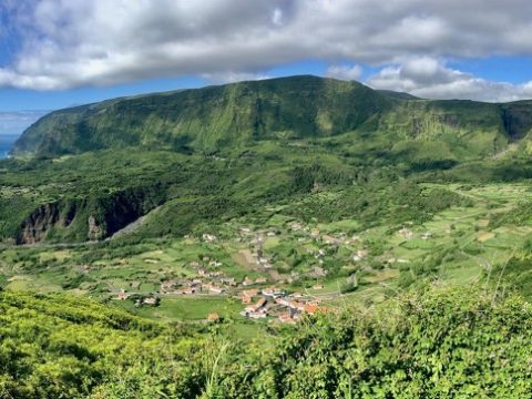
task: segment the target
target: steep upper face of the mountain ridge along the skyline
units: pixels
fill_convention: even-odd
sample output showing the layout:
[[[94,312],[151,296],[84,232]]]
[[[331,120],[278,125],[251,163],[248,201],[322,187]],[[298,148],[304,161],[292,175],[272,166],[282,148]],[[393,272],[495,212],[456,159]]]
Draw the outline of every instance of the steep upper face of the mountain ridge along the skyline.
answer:
[[[531,127],[530,102],[428,101],[352,81],[304,75],[115,99],[52,112],[29,127],[12,152],[55,156],[143,146],[227,153],[260,141],[360,132],[388,137],[386,146],[397,145],[399,153],[427,152],[427,142],[437,142],[440,155],[462,160],[503,151]]]

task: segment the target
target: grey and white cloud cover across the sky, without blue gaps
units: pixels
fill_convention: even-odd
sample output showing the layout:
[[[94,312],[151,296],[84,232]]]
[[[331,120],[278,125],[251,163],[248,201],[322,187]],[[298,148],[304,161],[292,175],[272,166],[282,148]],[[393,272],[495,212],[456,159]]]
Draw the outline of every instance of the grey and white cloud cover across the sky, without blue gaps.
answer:
[[[372,84],[406,76],[405,86],[421,90],[424,81],[443,95],[450,82],[437,91],[427,80],[452,79],[459,89],[482,82],[428,60],[532,55],[529,0],[2,0],[0,14],[9,16],[0,34],[20,38],[0,66],[0,86],[38,90],[262,78],[273,66],[318,59],[332,65],[327,74],[347,79],[359,74],[341,66],[346,61],[392,65]]]

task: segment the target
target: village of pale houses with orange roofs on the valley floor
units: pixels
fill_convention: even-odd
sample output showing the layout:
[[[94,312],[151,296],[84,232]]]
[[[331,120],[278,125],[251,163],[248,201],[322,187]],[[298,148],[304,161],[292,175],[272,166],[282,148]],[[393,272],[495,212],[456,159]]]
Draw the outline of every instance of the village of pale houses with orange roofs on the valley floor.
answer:
[[[182,278],[172,278],[160,283],[156,293],[140,293],[121,288],[115,299],[134,300],[135,307],[157,306],[165,297],[226,297],[234,298],[242,304],[239,315],[247,319],[278,320],[282,324],[295,324],[303,315],[334,311],[334,307],[326,306],[327,299],[338,296],[338,293],[324,291],[328,270],[324,268],[324,260],[328,254],[338,254],[339,248],[348,248],[347,262],[351,265],[366,264],[370,258],[369,248],[365,247],[358,235],[349,236],[347,233],[321,234],[317,228],[309,228],[301,223],[293,222],[287,226],[287,232],[297,235],[299,243],[309,241],[315,243],[316,249],[308,250],[309,272],[308,278],[315,280],[305,286],[297,285],[301,273],[291,270],[289,274],[279,274],[265,250],[268,238],[282,236],[279,229],[253,231],[250,227],[239,227],[233,238],[234,242],[247,244],[248,249],[242,249],[248,255],[247,266],[253,272],[250,275],[237,278],[224,272],[224,263],[209,256],[198,260],[190,260],[186,265],[191,275]],[[411,239],[413,233],[402,227],[397,234],[403,239]],[[428,239],[430,234],[424,233],[422,239]],[[187,236],[193,242],[194,238]],[[216,245],[221,239],[213,234],[203,234],[196,238],[202,245]],[[146,259],[146,262],[154,262]],[[397,257],[387,258],[385,264],[406,263],[407,259]],[[368,266],[366,266],[368,267]],[[252,277],[252,275],[254,277]],[[349,275],[346,284],[356,288],[358,278],[356,273]],[[298,288],[299,287],[299,288]],[[135,287],[129,287],[135,288]],[[301,289],[303,288],[303,289]],[[310,293],[311,291],[311,293]],[[145,294],[145,295],[140,295]],[[211,313],[209,320],[218,320],[216,313]]]

